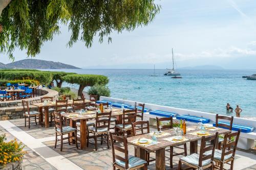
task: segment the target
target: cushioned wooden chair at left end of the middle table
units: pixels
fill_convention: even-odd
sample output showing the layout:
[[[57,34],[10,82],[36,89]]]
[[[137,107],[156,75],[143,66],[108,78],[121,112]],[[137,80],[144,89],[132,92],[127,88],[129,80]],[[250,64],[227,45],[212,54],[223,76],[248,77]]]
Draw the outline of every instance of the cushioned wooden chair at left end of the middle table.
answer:
[[[62,151],[63,144],[66,144],[66,143],[63,143],[63,140],[68,139],[67,143],[69,143],[69,145],[70,145],[71,144],[70,139],[73,138],[73,136],[71,136],[70,133],[74,133],[76,148],[78,149],[77,130],[70,126],[62,127],[63,118],[61,116],[61,113],[54,111],[53,114],[54,114],[54,122],[55,122],[55,146],[54,146],[54,148],[57,147],[57,141],[60,141],[60,151]],[[68,137],[63,137],[63,135],[68,135]],[[58,139],[58,136],[60,136],[60,139]]]

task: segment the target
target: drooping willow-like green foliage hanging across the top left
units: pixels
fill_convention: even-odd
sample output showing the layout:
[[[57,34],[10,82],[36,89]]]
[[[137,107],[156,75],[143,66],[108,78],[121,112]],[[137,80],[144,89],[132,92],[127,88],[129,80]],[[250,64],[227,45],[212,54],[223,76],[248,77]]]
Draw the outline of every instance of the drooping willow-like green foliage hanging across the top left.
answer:
[[[133,31],[146,26],[159,12],[154,0],[12,0],[3,10],[0,23],[0,52],[14,59],[15,48],[28,56],[40,53],[44,42],[60,33],[60,25],[69,25],[68,45],[82,40],[87,47],[98,35],[99,42],[113,31]]]

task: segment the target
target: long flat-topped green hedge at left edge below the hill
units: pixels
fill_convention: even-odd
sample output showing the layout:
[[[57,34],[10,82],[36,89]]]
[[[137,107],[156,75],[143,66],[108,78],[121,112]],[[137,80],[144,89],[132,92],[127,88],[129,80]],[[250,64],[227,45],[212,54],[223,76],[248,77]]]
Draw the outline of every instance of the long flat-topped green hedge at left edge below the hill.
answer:
[[[52,75],[44,71],[1,71],[0,79],[2,80],[38,80],[41,84],[50,84]]]

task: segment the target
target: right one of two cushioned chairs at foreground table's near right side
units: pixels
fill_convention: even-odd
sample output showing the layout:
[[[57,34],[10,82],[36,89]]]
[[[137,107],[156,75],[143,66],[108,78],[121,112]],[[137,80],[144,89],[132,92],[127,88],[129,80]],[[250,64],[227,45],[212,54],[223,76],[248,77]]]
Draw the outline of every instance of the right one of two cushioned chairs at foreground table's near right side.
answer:
[[[215,169],[224,169],[223,166],[225,163],[230,165],[231,170],[233,169],[234,156],[236,155],[240,132],[241,130],[224,136],[222,150],[215,150],[214,161],[217,163],[215,164]],[[230,140],[231,138],[235,139]]]

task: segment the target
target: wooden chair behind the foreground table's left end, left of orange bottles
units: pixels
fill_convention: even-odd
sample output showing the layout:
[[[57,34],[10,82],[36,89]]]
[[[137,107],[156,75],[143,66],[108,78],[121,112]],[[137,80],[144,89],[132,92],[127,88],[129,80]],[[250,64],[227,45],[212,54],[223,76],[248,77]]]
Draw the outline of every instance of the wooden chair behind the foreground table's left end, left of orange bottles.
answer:
[[[150,122],[139,120],[135,123],[132,123],[132,134],[133,136],[143,135],[150,133]],[[137,149],[135,147],[134,149],[134,156],[137,156]],[[156,159],[150,159],[150,153],[146,151],[146,161],[147,164],[149,164],[152,161],[155,161]]]

